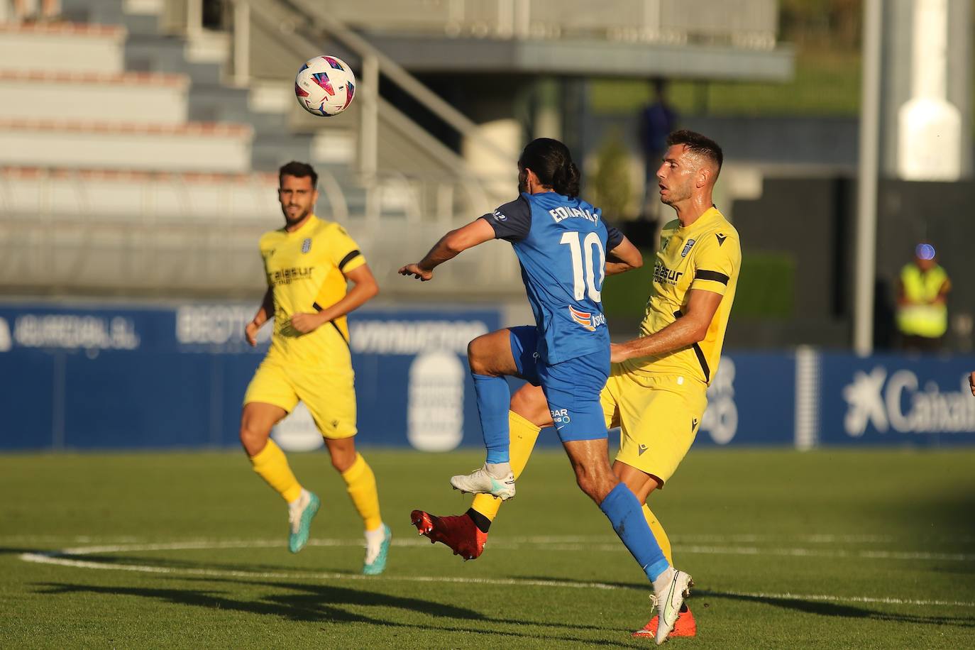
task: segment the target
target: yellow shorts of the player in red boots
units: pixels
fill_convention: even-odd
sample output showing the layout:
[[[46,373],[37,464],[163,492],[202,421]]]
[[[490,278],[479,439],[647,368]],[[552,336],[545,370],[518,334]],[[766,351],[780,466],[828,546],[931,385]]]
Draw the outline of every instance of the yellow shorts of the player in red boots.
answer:
[[[606,427],[620,427],[616,460],[659,478],[674,476],[708,405],[707,386],[679,375],[647,377],[609,370],[600,395]]]

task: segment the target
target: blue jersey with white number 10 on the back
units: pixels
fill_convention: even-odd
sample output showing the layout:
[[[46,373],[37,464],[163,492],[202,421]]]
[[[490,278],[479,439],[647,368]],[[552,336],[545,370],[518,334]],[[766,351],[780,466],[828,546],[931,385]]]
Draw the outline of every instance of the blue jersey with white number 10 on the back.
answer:
[[[482,218],[511,242],[538,328],[538,355],[562,363],[609,347],[601,291],[606,251],[623,240],[598,208],[556,192],[522,195]]]

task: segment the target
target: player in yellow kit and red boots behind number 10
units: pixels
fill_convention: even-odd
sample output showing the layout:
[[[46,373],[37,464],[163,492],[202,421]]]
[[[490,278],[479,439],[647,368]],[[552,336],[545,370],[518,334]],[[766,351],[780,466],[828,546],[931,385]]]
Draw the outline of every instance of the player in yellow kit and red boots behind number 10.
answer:
[[[657,171],[660,200],[677,217],[661,232],[653,281],[640,337],[611,346],[612,366],[601,395],[606,425],[621,427],[616,476],[643,502],[646,518],[673,563],[670,542],[646,507],[647,496],[673,476],[694,441],[707,406],[707,387],[718,371],[724,330],[734,300],[741,246],[738,233],[712,203],[722,167],[721,147],[688,131],[671,134]],[[504,332],[505,336],[501,336]],[[471,367],[516,367],[500,343],[506,330],[475,339]],[[526,363],[525,359],[518,360]],[[508,413],[511,466],[516,478],[525,468],[542,427],[552,425],[545,396],[536,386],[516,393]],[[480,494],[462,516],[413,511],[419,532],[443,542],[465,559],[478,557],[501,501]],[[656,617],[639,635],[653,635]],[[693,635],[689,611],[673,635]]]

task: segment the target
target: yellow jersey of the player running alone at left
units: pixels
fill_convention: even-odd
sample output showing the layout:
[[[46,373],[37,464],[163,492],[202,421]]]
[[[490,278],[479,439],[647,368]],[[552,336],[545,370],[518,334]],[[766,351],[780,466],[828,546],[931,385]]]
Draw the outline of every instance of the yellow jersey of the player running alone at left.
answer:
[[[312,214],[293,232],[281,228],[264,233],[260,256],[274,295],[268,357],[306,366],[350,360],[344,316],[307,334],[290,324],[293,314],[321,311],[341,300],[348,286],[344,274],[366,263],[345,229]]]

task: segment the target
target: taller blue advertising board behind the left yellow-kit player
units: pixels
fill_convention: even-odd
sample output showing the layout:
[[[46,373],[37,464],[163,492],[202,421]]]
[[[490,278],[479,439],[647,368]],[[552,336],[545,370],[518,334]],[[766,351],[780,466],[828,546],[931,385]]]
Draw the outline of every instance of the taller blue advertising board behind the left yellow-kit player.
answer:
[[[241,400],[270,334],[244,342],[254,309],[0,306],[0,449],[238,444]],[[364,309],[349,326],[363,442],[481,444],[465,356],[470,339],[500,326],[496,310]],[[322,445],[303,407],[275,437]]]

